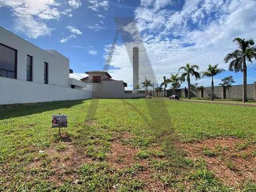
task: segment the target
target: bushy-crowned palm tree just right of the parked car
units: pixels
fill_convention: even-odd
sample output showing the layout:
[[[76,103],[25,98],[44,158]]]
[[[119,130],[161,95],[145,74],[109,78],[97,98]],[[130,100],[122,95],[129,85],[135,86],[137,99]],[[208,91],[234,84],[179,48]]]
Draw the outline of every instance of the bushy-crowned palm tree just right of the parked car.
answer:
[[[198,69],[199,69],[198,65],[190,65],[190,63],[186,63],[186,66],[179,68],[179,71],[184,70],[184,73],[182,73],[180,76],[180,80],[184,82],[186,78],[188,82],[188,98],[189,99],[190,99],[190,75],[195,76],[196,80],[200,79],[200,74],[196,71]]]

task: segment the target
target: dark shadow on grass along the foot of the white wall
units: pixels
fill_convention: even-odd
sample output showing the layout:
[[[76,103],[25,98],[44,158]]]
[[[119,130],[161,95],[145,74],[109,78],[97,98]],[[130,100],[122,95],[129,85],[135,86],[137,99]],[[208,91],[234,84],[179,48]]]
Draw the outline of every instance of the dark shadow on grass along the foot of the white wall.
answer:
[[[28,104],[0,105],[0,120],[38,114],[51,110],[67,109],[82,104],[84,100],[67,100]]]

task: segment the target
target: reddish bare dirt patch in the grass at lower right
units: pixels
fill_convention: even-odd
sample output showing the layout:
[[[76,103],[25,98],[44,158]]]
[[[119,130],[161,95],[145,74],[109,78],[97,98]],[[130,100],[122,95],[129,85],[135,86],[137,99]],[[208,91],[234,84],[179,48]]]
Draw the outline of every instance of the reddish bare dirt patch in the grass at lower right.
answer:
[[[237,138],[210,138],[180,146],[192,159],[203,158],[207,167],[228,185],[246,178],[256,182],[256,144]]]

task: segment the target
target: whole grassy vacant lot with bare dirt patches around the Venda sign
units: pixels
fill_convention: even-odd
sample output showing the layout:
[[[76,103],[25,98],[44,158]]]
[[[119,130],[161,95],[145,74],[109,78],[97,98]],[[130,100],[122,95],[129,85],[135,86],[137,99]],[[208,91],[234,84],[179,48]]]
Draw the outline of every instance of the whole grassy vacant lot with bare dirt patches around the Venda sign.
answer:
[[[162,99],[0,106],[0,191],[256,191],[255,114]]]

